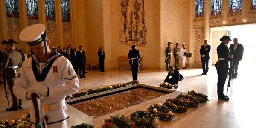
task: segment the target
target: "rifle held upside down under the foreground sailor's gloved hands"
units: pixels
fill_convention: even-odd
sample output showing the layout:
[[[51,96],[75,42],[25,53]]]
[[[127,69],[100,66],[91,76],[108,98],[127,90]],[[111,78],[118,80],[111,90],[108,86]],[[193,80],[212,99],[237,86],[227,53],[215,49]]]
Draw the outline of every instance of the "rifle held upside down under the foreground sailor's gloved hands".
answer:
[[[44,122],[44,115],[41,114],[41,111],[44,111],[41,107],[41,99],[36,93],[32,93],[31,98],[35,110],[35,128],[47,128]]]

